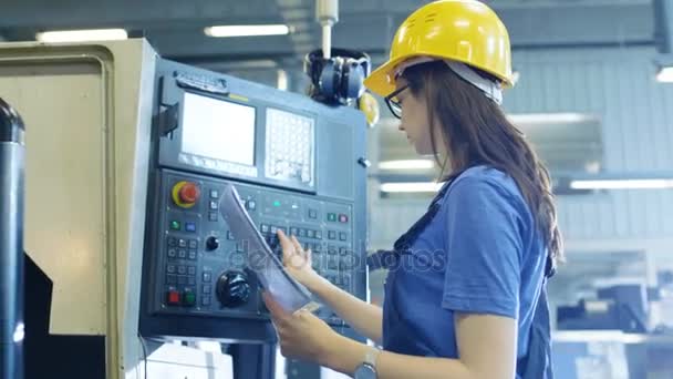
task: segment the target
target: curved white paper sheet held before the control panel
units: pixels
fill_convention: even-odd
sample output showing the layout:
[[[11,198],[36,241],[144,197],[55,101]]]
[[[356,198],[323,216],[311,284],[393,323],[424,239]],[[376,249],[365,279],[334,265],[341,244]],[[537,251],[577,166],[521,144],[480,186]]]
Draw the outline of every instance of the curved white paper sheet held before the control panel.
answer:
[[[311,293],[286,272],[242,206],[234,185],[227,184],[225,187],[219,201],[219,209],[234,238],[244,246],[248,268],[257,274],[265,290],[283,309],[294,313],[299,309],[313,311],[320,308],[320,304],[313,301]]]

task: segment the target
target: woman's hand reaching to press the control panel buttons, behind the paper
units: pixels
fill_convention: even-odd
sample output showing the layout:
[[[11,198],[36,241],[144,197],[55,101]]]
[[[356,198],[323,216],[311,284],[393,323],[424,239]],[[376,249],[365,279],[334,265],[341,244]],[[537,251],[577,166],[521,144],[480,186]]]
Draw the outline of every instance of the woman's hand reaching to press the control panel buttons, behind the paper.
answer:
[[[278,231],[278,239],[282,247],[282,264],[286,270],[309,290],[314,291],[325,280],[315,273],[311,260],[311,250],[306,250],[294,236],[288,237],[282,231]]]

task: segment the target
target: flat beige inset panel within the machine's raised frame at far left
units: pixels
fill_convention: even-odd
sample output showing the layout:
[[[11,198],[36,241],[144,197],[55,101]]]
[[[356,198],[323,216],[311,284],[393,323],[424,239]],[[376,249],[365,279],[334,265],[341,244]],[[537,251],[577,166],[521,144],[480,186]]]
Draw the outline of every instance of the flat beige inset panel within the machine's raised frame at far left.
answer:
[[[95,62],[6,63],[0,93],[27,124],[25,250],[53,280],[52,315],[105,332],[105,131]],[[51,318],[53,334],[72,328]]]

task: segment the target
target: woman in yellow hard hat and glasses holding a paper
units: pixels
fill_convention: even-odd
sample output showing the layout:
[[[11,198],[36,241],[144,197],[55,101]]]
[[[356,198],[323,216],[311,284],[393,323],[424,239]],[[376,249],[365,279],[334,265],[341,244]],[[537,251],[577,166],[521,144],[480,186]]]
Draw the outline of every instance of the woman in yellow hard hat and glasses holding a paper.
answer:
[[[509,38],[475,0],[435,1],[400,27],[365,81],[446,182],[395,243],[384,307],[311,269],[279,233],[288,270],[382,350],[265,297],[283,355],[355,378],[550,378],[546,277],[561,256],[549,175],[500,109]]]

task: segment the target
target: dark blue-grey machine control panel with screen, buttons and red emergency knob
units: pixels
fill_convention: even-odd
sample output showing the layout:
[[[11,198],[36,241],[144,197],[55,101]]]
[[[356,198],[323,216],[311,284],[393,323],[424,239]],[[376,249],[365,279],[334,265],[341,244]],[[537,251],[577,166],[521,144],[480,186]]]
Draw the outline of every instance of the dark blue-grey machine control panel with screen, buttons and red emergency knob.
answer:
[[[143,336],[275,339],[248,269],[255,254],[219,209],[229,183],[279,258],[281,229],[311,249],[320,275],[364,299],[364,116],[170,61],[156,84]],[[328,307],[317,315],[353,334]]]

